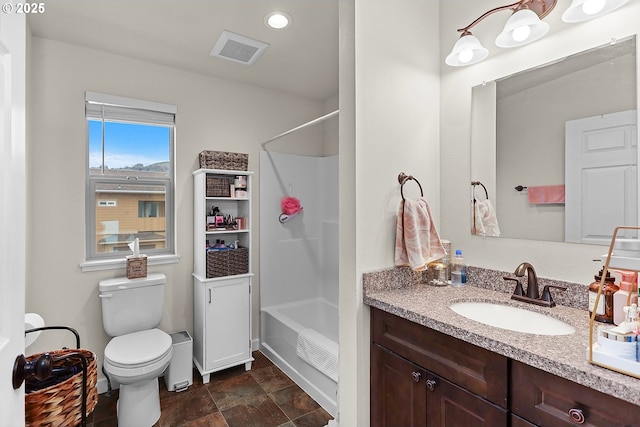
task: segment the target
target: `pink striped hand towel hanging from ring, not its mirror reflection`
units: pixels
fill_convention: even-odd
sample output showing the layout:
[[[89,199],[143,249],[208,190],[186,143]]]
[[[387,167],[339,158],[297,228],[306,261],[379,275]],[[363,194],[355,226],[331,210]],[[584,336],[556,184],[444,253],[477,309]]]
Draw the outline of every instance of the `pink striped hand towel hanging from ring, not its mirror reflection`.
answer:
[[[396,221],[396,265],[408,265],[414,271],[422,271],[428,263],[445,254],[427,201],[420,198],[400,202]]]

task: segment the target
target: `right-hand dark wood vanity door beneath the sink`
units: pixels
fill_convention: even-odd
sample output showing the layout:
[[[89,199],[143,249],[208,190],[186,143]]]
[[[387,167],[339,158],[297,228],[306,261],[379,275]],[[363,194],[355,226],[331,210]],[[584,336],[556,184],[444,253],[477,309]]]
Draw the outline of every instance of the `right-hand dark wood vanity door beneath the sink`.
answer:
[[[469,391],[427,372],[427,426],[506,427],[508,414]]]

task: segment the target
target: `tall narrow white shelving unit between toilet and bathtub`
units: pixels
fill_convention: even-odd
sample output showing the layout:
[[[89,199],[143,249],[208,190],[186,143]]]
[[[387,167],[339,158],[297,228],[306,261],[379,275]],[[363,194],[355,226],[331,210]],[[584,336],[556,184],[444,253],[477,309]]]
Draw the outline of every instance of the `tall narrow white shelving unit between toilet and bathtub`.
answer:
[[[194,248],[193,248],[193,362],[208,383],[210,374],[233,366],[245,365],[251,369],[251,177],[253,172],[219,169],[198,169],[194,178]],[[207,196],[207,178],[218,183],[236,177],[246,180],[246,197]],[[244,218],[241,229],[232,226],[208,229],[207,216],[218,207],[223,216]],[[208,256],[207,241],[226,244],[234,242],[235,250]],[[237,251],[237,252],[234,252]],[[242,256],[236,257],[240,251]],[[246,268],[238,272],[237,266],[229,275],[220,275],[228,265],[218,256],[231,260],[246,259]],[[218,265],[213,265],[218,262]],[[233,262],[232,262],[233,263]],[[243,263],[241,263],[243,264]]]

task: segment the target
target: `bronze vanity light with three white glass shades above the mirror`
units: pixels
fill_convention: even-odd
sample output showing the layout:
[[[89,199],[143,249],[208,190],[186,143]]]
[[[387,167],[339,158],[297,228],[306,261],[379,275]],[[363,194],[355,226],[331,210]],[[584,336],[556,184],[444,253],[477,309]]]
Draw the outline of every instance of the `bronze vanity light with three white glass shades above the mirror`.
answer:
[[[572,0],[571,6],[562,15],[565,22],[580,22],[597,18],[627,3],[628,0]],[[513,14],[507,20],[502,32],[496,38],[496,46],[510,48],[523,46],[543,37],[549,31],[544,19],[558,3],[558,0],[519,0],[512,4],[493,8],[475,19],[469,25],[459,28],[460,39],[447,55],[445,63],[454,67],[471,65],[482,61],[489,51],[471,33],[480,21],[503,10]]]

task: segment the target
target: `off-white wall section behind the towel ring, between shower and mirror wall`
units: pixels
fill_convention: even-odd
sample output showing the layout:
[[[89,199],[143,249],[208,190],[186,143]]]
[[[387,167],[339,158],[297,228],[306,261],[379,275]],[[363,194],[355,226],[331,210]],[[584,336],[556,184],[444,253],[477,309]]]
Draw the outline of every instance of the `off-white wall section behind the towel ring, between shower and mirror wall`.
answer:
[[[339,407],[346,426],[369,422],[361,277],[393,266],[400,172],[420,180],[439,220],[438,7],[435,0],[341,2]]]

